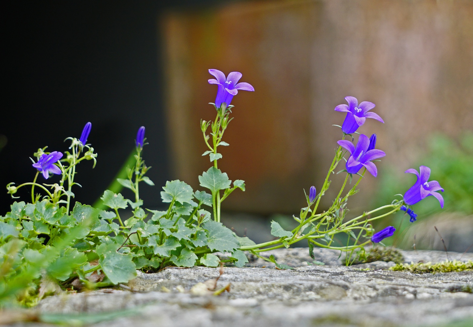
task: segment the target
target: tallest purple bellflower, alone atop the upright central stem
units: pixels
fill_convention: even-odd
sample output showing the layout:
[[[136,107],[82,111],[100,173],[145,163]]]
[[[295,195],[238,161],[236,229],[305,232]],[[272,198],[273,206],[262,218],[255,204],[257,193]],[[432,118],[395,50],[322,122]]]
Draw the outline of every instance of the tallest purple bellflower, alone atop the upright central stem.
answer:
[[[232,102],[233,96],[236,96],[238,90],[245,91],[254,91],[251,84],[242,82],[238,83],[238,80],[241,79],[242,73],[238,71],[232,71],[225,78],[225,74],[216,69],[209,69],[211,75],[215,76],[217,79],[210,79],[210,84],[217,84],[219,89],[217,90],[217,97],[215,98],[215,106],[219,108],[222,103],[226,103],[227,106]],[[238,83],[238,84],[236,84]]]

